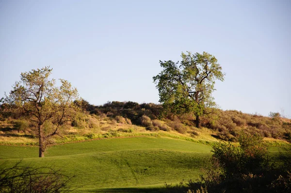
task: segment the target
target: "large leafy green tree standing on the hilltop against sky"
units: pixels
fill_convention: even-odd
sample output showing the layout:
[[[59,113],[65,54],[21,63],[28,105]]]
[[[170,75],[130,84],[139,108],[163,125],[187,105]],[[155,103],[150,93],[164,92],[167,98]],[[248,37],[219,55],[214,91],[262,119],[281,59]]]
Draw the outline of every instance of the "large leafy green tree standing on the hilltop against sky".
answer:
[[[225,74],[217,59],[207,52],[187,51],[181,57],[180,63],[160,61],[163,70],[153,80],[164,109],[177,114],[193,113],[199,128],[199,116],[215,106],[212,97],[215,80],[223,81]]]

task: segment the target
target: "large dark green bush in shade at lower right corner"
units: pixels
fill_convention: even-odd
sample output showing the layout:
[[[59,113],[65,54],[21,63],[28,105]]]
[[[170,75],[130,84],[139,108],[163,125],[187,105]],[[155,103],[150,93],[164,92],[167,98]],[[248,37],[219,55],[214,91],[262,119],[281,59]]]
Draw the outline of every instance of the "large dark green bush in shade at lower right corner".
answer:
[[[212,165],[200,180],[188,182],[188,192],[290,193],[290,165],[285,166],[290,163],[290,154],[285,157],[284,167],[275,168],[258,134],[241,133],[238,139],[239,146],[222,142],[212,146]]]

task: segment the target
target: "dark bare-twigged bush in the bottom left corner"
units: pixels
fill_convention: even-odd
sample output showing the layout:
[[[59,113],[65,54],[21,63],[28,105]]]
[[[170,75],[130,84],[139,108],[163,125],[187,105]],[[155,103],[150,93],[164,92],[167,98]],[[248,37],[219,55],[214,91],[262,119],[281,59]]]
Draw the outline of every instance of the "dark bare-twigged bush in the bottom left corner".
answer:
[[[17,162],[12,167],[0,167],[1,193],[61,193],[68,191],[72,177],[51,167],[24,167]]]

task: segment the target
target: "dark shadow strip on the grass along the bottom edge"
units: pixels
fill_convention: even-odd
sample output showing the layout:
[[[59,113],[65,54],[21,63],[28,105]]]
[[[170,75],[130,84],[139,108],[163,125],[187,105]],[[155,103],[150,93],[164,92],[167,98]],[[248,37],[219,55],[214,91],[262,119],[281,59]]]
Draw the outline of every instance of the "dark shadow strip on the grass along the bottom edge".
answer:
[[[85,191],[87,193],[168,193],[167,188],[110,188]]]

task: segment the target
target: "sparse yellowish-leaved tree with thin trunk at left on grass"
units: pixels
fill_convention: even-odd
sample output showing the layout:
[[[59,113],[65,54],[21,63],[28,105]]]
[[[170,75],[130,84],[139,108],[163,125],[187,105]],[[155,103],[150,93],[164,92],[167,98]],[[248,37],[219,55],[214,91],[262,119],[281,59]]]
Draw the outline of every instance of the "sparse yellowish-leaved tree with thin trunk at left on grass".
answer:
[[[60,129],[78,111],[73,103],[78,98],[77,89],[63,79],[61,86],[56,86],[55,80],[49,79],[51,71],[52,68],[44,67],[21,73],[10,95],[1,99],[1,112],[9,111],[31,121],[38,137],[39,157],[44,157],[52,136],[60,135]]]

